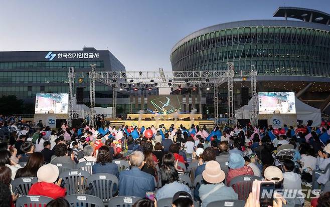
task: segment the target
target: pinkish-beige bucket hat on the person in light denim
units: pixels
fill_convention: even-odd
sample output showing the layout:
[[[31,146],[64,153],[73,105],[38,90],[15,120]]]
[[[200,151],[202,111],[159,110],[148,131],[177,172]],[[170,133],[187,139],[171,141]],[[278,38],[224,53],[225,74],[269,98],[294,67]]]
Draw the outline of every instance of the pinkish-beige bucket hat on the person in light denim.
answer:
[[[205,170],[202,175],[205,181],[213,184],[220,183],[226,178],[226,174],[221,169],[220,164],[214,160],[206,163]]]

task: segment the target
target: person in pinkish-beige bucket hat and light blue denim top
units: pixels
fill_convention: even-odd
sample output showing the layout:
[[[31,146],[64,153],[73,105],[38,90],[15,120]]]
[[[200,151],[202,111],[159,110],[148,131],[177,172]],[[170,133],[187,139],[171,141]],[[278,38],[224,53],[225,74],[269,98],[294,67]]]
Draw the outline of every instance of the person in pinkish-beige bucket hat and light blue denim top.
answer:
[[[225,172],[217,161],[211,160],[205,165],[203,171],[204,184],[199,188],[199,197],[202,200],[202,207],[216,200],[237,200],[238,195],[232,187],[227,187],[223,181],[226,178]]]

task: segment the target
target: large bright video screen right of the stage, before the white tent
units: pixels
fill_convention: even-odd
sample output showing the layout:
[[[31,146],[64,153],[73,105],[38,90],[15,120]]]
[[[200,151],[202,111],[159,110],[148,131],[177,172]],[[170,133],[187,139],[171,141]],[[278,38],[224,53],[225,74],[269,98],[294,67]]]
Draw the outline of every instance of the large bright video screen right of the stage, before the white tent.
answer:
[[[259,92],[260,114],[295,114],[294,92]]]

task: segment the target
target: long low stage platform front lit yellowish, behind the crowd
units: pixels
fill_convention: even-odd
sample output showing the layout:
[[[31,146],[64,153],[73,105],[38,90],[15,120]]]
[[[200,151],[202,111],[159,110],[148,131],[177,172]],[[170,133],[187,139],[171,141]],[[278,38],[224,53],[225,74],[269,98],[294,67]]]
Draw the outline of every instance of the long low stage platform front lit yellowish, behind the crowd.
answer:
[[[111,120],[110,126],[116,126],[121,127],[122,125],[127,126],[137,126],[137,127],[149,127],[151,125],[154,125],[155,127],[158,127],[160,124],[164,124],[164,126],[168,129],[171,124],[174,124],[176,128],[179,128],[182,124],[187,129],[190,128],[192,124],[199,125],[200,128],[202,128],[204,125],[206,125],[207,128],[212,129],[215,126],[215,122],[213,120],[190,120],[190,121],[184,121],[184,120],[153,120],[153,121],[145,121],[145,120]]]

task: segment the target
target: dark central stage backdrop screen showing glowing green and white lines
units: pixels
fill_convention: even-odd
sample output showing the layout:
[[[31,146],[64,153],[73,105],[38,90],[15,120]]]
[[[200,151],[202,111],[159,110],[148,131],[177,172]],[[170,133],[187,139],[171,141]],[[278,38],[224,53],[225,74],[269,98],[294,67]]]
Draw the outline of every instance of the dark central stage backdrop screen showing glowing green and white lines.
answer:
[[[147,110],[149,114],[171,114],[183,110],[182,96],[148,96]]]

